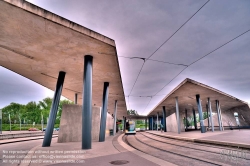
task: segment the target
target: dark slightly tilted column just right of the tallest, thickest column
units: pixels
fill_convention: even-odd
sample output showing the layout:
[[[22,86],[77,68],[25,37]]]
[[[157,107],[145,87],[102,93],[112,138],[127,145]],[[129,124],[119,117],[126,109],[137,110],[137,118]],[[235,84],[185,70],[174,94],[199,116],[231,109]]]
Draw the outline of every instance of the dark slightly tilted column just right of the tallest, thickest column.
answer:
[[[107,107],[108,107],[108,94],[109,94],[109,83],[104,82],[103,96],[102,96],[102,113],[101,113],[99,142],[104,142],[105,141]]]

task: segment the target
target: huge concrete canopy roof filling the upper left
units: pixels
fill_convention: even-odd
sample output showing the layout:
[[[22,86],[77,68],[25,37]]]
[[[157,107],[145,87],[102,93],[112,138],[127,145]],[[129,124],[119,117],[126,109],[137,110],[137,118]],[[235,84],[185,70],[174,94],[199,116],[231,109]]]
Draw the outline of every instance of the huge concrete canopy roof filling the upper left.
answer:
[[[51,90],[66,72],[62,95],[82,104],[84,56],[93,56],[93,100],[102,106],[109,82],[108,112],[127,115],[114,40],[23,0],[0,1],[0,65]]]

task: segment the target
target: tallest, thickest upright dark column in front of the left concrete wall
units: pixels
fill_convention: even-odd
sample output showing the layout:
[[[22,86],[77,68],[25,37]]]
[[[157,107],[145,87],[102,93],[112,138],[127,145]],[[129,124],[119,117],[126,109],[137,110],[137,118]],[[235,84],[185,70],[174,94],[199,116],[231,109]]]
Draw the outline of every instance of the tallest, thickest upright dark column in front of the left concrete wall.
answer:
[[[92,62],[93,57],[84,56],[82,96],[82,149],[91,149],[92,130]]]

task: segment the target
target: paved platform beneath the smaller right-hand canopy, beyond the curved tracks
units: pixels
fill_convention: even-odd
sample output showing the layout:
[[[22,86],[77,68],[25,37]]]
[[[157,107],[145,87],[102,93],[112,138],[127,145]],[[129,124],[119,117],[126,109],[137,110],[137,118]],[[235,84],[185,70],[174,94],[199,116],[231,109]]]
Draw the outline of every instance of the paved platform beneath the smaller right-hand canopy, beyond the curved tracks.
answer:
[[[250,130],[208,131],[206,133],[201,133],[197,130],[181,132],[180,134],[150,130],[146,132],[177,140],[250,149]]]

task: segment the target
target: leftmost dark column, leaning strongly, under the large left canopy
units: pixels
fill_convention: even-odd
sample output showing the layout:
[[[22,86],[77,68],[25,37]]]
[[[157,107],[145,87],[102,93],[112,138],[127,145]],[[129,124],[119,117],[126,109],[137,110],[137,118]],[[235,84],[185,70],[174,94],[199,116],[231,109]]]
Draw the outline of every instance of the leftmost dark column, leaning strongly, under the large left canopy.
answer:
[[[47,123],[42,147],[50,146],[50,144],[51,144],[51,138],[52,138],[52,134],[54,131],[54,125],[55,125],[58,105],[60,102],[60,97],[62,94],[65,74],[66,73],[63,71],[59,72],[59,76],[58,76],[57,83],[56,83],[56,90],[55,90],[54,98],[53,98],[52,105],[50,108],[49,122]]]

